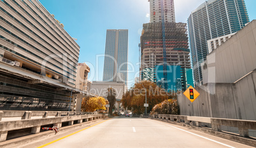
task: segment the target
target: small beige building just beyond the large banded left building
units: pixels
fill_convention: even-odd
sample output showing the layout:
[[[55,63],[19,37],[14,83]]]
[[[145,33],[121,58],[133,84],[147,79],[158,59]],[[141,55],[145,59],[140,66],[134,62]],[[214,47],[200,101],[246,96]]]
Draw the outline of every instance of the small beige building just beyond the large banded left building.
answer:
[[[90,67],[85,63],[79,63],[76,73],[76,88],[87,91],[87,78],[90,72]]]

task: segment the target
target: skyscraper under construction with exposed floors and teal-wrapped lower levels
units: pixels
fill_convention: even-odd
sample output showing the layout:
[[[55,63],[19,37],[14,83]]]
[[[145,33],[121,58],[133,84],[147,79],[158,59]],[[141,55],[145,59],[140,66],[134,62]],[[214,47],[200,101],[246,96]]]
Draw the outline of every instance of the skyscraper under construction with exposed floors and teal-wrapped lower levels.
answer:
[[[141,80],[174,91],[194,86],[186,24],[175,23],[174,1],[149,1],[150,23],[143,24],[141,34]]]

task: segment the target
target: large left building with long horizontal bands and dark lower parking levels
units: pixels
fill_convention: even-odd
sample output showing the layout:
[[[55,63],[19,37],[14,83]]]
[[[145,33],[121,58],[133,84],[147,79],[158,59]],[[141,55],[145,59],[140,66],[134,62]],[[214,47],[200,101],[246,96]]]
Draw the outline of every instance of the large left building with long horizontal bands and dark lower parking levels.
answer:
[[[39,1],[0,6],[0,110],[67,111],[80,46]]]

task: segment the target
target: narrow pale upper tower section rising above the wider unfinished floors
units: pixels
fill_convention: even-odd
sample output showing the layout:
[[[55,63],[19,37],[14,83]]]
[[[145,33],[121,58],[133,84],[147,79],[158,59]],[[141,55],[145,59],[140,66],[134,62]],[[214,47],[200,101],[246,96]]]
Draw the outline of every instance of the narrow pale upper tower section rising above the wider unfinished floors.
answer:
[[[150,2],[150,22],[162,22],[161,0],[148,0]],[[164,2],[164,21],[175,22],[174,0],[163,0]]]

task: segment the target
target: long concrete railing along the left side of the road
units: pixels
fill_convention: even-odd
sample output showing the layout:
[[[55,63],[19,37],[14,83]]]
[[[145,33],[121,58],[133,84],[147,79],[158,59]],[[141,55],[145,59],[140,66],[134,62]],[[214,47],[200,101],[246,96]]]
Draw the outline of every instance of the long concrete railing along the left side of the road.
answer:
[[[106,118],[108,114],[86,114],[85,112],[50,112],[50,111],[0,111],[0,117],[21,117],[20,120],[15,121],[0,121],[0,142],[6,140],[8,136],[8,131],[22,130],[26,128],[31,128],[31,133],[39,133],[41,126],[53,124],[60,128],[62,123],[67,123],[68,125],[73,125],[74,121],[77,123],[83,123],[87,121],[92,121],[95,119]],[[42,116],[39,119],[31,119],[32,116]],[[49,118],[49,116],[55,116]],[[47,118],[48,117],[48,118]],[[1,118],[0,118],[1,119]]]

